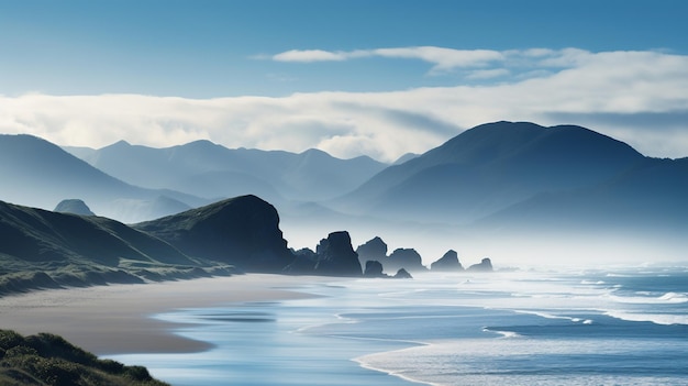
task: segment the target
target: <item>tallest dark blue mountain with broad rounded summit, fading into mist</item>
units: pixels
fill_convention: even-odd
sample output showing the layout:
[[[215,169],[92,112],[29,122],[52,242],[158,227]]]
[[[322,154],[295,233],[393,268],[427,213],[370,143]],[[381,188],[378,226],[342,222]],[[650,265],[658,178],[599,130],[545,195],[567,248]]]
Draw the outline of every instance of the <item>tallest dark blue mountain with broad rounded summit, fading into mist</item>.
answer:
[[[540,195],[600,185],[644,162],[625,143],[585,128],[496,122],[388,167],[332,205],[389,219],[469,224]]]

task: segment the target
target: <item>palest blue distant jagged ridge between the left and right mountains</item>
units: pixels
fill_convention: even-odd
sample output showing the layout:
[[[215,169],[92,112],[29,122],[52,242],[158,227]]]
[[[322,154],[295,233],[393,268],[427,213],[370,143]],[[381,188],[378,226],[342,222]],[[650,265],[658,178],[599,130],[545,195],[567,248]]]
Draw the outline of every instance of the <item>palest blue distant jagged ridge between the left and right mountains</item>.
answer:
[[[387,165],[369,157],[340,159],[318,150],[300,154],[230,150],[209,141],[167,148],[120,141],[100,150],[66,147],[130,184],[206,198],[253,194],[270,201],[318,201],[353,190]]]

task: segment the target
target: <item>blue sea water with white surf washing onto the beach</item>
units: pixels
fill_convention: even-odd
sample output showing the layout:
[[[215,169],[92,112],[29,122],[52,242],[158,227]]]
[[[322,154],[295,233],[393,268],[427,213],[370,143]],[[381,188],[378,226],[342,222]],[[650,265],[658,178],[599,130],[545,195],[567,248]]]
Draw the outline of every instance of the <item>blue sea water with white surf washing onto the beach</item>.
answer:
[[[156,318],[214,344],[112,356],[173,385],[688,385],[688,269],[423,274]]]

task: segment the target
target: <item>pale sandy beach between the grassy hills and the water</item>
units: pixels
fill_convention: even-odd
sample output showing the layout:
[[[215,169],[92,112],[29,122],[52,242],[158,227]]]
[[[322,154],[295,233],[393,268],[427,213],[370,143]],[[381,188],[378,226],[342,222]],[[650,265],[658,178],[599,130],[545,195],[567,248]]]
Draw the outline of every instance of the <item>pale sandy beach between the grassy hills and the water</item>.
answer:
[[[97,355],[197,352],[209,345],[174,334],[178,324],[151,316],[179,308],[306,298],[312,295],[285,288],[319,279],[324,280],[249,274],[37,290],[0,298],[0,329],[55,333]]]

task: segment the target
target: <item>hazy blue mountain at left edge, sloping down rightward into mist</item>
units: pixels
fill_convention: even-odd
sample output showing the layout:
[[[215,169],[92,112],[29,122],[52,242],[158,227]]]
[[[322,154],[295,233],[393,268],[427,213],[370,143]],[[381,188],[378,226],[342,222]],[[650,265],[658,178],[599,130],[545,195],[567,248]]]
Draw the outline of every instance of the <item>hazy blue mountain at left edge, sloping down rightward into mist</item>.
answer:
[[[101,216],[127,222],[207,202],[169,189],[123,183],[31,135],[0,135],[0,179],[4,201],[52,209],[63,199],[78,198]]]

